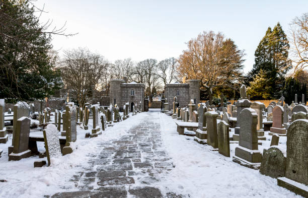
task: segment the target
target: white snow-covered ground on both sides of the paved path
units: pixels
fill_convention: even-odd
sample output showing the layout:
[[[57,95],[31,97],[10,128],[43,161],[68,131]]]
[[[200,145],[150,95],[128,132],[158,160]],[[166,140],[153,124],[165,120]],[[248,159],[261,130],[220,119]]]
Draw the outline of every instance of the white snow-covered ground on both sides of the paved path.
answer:
[[[151,119],[158,119],[162,131],[164,148],[172,158],[175,168],[164,177],[160,188],[168,186],[177,194],[190,197],[301,197],[293,192],[279,187],[277,180],[261,175],[259,170],[253,170],[232,162],[232,157],[237,144],[230,144],[230,155],[227,158],[217,151],[210,151],[210,146],[200,145],[193,141],[193,137],[180,136],[177,133],[176,124],[171,116],[159,111],[139,113],[135,116],[115,123],[108,127],[103,135],[98,138],[85,139],[85,134],[91,132],[92,120],[89,120],[89,130],[78,126],[78,147],[72,154],[53,160],[51,166],[34,168],[34,161],[46,160],[33,156],[20,161],[8,161],[8,146],[12,144],[12,135],[9,135],[7,144],[0,144],[4,150],[0,158],[0,197],[43,197],[45,194],[53,194],[63,191],[61,186],[67,186],[67,180],[76,172],[82,171],[82,165],[90,159],[89,154],[100,150],[97,143],[108,142],[111,139],[121,137],[135,124],[140,123],[145,115]],[[233,133],[233,132],[232,132]],[[262,141],[259,146],[268,148],[270,137]],[[285,147],[286,138],[281,138]],[[43,143],[38,144],[39,150],[44,150]],[[73,191],[74,186],[68,186]],[[77,190],[75,188],[75,190]]]

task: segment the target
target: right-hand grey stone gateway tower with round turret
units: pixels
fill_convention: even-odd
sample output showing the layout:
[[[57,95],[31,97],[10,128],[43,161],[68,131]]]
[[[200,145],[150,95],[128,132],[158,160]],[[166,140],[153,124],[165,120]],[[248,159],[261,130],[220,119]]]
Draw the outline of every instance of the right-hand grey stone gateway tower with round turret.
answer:
[[[193,99],[195,104],[200,101],[200,80],[186,80],[183,83],[166,84],[165,96],[168,99],[169,109],[172,109],[173,98],[176,96],[179,107],[185,107]]]

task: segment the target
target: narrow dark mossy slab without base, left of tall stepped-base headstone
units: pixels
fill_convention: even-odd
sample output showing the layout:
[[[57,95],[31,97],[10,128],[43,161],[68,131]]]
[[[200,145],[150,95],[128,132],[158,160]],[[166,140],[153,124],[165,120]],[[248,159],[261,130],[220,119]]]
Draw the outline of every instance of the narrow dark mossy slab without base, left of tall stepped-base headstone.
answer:
[[[225,112],[227,115],[228,113]],[[227,115],[228,116],[228,115]],[[217,124],[218,153],[230,157],[229,124],[224,120]]]

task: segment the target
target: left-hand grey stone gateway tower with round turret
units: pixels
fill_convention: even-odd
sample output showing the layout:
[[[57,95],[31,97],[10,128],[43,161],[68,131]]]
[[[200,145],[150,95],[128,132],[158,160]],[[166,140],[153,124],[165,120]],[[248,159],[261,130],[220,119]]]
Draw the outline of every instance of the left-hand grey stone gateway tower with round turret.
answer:
[[[129,102],[129,110],[132,111],[134,105],[140,106],[144,111],[144,84],[143,83],[127,83],[126,77],[122,79],[110,80],[110,103],[123,107]]]

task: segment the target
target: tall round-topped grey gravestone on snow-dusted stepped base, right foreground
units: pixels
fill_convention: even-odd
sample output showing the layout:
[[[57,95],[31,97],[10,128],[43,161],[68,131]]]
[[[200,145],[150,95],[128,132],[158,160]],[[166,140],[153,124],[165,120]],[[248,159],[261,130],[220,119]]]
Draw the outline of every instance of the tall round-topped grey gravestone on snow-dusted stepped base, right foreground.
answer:
[[[240,117],[240,140],[233,161],[242,166],[258,169],[262,157],[258,150],[258,115],[254,109],[246,108],[242,110]]]

